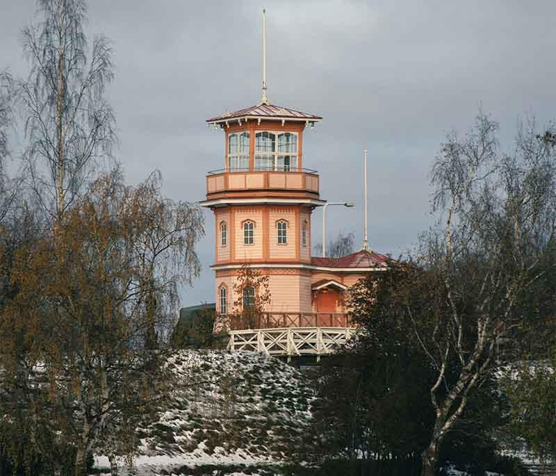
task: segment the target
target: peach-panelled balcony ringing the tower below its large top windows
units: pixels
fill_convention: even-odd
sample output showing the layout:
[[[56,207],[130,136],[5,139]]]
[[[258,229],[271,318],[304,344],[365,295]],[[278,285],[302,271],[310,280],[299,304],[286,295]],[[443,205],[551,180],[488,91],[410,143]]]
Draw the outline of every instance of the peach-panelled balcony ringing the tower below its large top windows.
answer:
[[[316,170],[220,169],[206,175],[206,198],[245,192],[294,192],[318,199],[319,177]]]

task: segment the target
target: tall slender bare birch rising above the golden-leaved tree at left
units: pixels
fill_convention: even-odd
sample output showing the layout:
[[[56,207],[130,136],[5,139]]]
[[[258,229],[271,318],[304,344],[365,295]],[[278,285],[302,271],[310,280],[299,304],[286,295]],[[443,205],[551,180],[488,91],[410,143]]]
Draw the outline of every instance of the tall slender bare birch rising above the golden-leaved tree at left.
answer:
[[[104,99],[113,78],[111,47],[98,36],[90,55],[85,0],[38,0],[41,22],[24,28],[31,74],[19,83],[28,147],[25,177],[42,207],[60,220],[111,158],[113,110]]]

